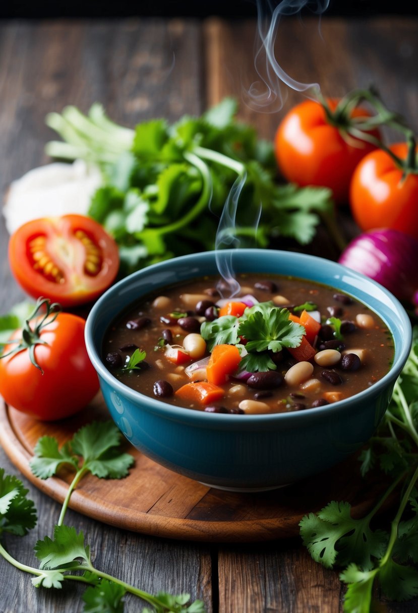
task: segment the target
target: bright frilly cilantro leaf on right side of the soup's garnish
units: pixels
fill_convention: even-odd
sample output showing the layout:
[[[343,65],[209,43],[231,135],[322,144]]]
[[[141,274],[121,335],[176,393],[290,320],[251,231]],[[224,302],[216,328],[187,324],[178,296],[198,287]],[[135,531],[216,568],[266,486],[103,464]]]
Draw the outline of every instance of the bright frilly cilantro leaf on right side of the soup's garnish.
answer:
[[[238,335],[246,338],[246,350],[278,352],[283,347],[300,345],[305,328],[289,319],[289,311],[271,302],[260,302],[245,310]]]

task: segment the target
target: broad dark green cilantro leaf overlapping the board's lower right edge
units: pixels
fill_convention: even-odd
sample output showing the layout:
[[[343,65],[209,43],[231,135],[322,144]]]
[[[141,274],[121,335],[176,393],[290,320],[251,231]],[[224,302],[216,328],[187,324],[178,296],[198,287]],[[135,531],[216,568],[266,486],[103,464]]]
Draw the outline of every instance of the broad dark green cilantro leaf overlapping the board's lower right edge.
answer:
[[[353,519],[351,504],[332,501],[317,514],[310,513],[300,522],[300,535],[316,562],[332,568],[354,562],[364,570],[373,566],[372,558],[380,558],[387,544],[387,533],[372,531],[370,518]]]

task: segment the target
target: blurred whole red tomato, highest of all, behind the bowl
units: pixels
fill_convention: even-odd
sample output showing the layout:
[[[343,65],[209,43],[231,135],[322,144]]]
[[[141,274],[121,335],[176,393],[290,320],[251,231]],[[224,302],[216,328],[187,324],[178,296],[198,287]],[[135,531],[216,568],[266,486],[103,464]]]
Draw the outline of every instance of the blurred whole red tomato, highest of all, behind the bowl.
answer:
[[[329,99],[334,110],[337,99]],[[370,116],[355,107],[351,117]],[[377,131],[372,131],[376,138]],[[327,121],[324,107],[308,100],[291,109],[279,124],[275,135],[275,156],[283,177],[300,186],[325,186],[333,191],[337,204],[348,204],[349,185],[355,167],[376,147],[349,137],[343,139],[338,128]]]

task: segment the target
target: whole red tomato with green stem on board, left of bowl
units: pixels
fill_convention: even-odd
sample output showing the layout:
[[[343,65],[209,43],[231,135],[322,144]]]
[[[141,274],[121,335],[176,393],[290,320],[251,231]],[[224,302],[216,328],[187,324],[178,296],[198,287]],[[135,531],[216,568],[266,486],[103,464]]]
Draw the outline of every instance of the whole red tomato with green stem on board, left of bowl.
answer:
[[[32,327],[32,322],[31,322]],[[85,321],[71,313],[59,313],[40,332],[47,345],[36,345],[37,364],[27,349],[0,359],[0,394],[18,411],[41,421],[55,421],[77,413],[99,390],[99,379],[84,340]],[[21,338],[17,330],[12,338]],[[8,345],[3,353],[13,349]]]

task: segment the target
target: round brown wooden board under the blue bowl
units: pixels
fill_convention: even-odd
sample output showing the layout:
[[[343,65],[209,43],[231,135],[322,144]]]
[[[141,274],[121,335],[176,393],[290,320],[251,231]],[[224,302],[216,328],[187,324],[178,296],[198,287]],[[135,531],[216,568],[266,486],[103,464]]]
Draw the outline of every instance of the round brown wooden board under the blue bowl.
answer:
[[[0,398],[0,444],[36,487],[62,503],[72,475],[36,478],[29,468],[40,436],[69,440],[82,425],[110,419],[101,394],[85,411],[61,422],[39,422]],[[298,535],[298,523],[331,500],[352,504],[360,516],[374,503],[381,485],[363,480],[352,458],[298,484],[262,493],[231,493],[206,487],[148,459],[126,442],[134,455],[129,476],[109,481],[88,475],[70,498],[70,508],[93,519],[153,536],[191,541],[268,541]]]

